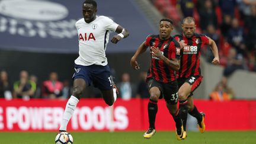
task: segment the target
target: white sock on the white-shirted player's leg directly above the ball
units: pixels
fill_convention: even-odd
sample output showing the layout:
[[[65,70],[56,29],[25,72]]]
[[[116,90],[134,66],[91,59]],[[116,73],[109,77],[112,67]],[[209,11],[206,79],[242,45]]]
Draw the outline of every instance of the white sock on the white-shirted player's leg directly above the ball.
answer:
[[[78,104],[78,99],[71,95],[71,98],[69,98],[68,102],[66,103],[66,108],[62,117],[62,122],[60,124],[59,130],[66,130],[66,127],[68,126],[68,122],[73,116],[73,113],[75,111],[76,105]]]

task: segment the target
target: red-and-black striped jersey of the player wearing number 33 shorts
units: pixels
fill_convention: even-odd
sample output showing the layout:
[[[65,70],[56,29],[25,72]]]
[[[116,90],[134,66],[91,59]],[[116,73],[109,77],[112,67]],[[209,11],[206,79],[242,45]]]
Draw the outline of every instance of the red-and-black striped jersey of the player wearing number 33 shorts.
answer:
[[[167,40],[159,39],[158,35],[150,35],[146,38],[145,45],[158,47],[162,54],[168,59],[180,59],[180,44],[173,37]],[[148,78],[159,82],[172,82],[176,78],[176,72],[168,66],[164,60],[151,55],[151,65],[148,70]]]

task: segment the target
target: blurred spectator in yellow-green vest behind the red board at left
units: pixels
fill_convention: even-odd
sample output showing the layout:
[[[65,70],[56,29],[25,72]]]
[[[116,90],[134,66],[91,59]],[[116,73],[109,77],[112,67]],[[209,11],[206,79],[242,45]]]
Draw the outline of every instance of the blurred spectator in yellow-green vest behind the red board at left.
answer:
[[[28,79],[28,72],[20,72],[20,80],[14,82],[14,98],[23,98],[29,100],[34,97],[36,91],[36,83]]]

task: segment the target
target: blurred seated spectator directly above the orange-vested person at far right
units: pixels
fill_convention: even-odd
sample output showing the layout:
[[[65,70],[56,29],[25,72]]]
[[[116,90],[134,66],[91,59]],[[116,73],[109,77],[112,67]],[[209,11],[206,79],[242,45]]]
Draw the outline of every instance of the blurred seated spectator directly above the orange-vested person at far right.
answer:
[[[244,68],[244,59],[242,55],[237,55],[235,49],[229,50],[229,56],[227,60],[227,66],[224,69],[223,75],[229,76],[231,75],[236,69],[245,69]]]

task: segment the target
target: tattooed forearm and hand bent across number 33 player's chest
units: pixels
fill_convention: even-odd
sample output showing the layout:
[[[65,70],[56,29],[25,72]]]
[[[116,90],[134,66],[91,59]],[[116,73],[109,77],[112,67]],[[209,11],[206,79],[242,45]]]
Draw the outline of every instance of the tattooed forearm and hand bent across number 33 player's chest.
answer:
[[[178,71],[180,69],[180,60],[172,59],[169,60],[167,57],[162,55],[161,51],[157,47],[151,47],[151,53],[153,56],[158,57],[159,59],[164,60],[165,63],[167,63],[168,66],[171,67],[174,71]]]

